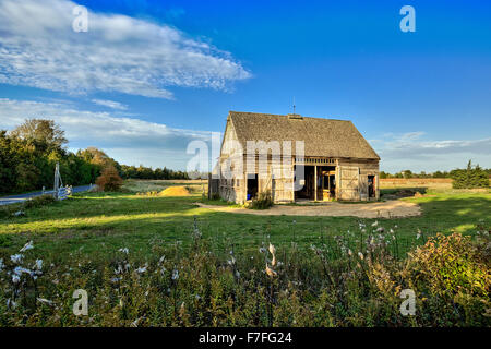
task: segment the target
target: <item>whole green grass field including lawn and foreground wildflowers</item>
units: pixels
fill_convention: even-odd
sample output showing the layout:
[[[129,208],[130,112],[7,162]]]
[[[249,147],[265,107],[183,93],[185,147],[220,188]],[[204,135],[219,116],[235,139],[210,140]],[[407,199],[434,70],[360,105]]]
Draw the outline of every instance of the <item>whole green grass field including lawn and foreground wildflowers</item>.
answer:
[[[197,188],[155,194],[168,185],[2,207],[0,327],[489,326],[489,191],[428,190],[404,198],[419,217],[358,219],[221,213],[194,204]],[[400,314],[406,288],[416,316]]]

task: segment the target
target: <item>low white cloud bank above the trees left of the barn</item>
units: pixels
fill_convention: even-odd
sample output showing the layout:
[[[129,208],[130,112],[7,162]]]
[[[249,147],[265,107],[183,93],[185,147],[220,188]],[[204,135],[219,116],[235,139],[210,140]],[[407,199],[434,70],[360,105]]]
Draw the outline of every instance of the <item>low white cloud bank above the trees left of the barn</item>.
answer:
[[[0,130],[12,130],[28,118],[55,120],[65,131],[73,151],[97,146],[127,165],[185,169],[192,157],[185,153],[191,141],[209,142],[211,132],[168,128],[108,112],[76,110],[59,103],[0,98]]]

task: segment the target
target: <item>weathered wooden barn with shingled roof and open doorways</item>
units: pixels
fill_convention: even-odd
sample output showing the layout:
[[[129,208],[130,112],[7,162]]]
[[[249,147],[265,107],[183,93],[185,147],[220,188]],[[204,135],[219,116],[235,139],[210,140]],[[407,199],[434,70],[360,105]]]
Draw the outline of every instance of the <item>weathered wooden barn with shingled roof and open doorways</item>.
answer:
[[[267,154],[261,167],[250,147],[259,142],[279,144],[280,156]],[[276,203],[378,200],[379,160],[351,121],[230,111],[208,192],[236,203],[264,191]],[[233,173],[224,176],[224,167]]]

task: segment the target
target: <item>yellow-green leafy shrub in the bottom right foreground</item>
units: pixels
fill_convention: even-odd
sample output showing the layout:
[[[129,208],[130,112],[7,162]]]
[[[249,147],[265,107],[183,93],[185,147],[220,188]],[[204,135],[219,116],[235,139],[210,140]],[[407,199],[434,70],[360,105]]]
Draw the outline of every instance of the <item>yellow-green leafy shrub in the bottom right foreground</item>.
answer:
[[[422,306],[433,313],[435,324],[453,325],[456,320],[476,325],[489,312],[490,260],[484,254],[488,241],[479,244],[459,233],[436,234],[409,253],[406,276],[419,292]]]

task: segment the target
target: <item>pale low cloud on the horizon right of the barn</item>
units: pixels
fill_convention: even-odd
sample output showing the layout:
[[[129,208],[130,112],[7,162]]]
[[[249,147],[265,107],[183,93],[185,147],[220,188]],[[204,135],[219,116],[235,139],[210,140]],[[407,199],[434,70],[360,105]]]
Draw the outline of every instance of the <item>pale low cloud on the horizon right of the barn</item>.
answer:
[[[474,164],[491,167],[491,137],[482,140],[423,140],[424,132],[384,134],[372,140],[381,157],[381,169],[397,172],[436,171],[463,168],[469,159]]]

